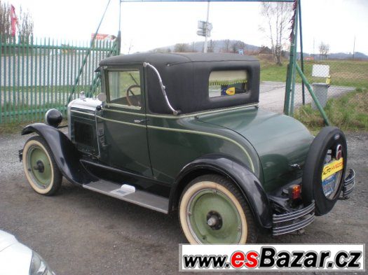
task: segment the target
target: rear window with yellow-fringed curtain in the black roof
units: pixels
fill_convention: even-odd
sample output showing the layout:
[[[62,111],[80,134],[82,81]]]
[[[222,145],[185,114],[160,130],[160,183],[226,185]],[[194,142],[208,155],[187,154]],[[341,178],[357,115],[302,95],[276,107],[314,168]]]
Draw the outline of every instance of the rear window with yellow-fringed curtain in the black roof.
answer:
[[[209,97],[231,97],[247,92],[247,71],[212,71],[208,80]]]

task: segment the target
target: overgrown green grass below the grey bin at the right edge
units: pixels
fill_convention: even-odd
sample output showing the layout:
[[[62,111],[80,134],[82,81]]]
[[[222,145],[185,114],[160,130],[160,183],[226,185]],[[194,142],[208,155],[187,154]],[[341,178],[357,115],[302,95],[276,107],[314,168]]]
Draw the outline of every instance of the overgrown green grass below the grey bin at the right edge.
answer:
[[[368,90],[357,88],[339,98],[329,99],[325,112],[331,125],[344,131],[368,131]],[[313,110],[311,104],[297,108],[294,118],[300,120],[312,132],[325,126],[318,110]]]

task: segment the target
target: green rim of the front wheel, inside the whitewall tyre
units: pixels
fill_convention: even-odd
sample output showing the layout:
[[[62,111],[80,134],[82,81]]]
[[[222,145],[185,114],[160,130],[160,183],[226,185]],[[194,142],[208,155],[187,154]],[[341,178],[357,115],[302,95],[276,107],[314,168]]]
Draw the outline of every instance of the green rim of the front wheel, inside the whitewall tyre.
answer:
[[[32,146],[27,154],[28,171],[39,188],[46,189],[53,175],[48,155],[40,146]]]

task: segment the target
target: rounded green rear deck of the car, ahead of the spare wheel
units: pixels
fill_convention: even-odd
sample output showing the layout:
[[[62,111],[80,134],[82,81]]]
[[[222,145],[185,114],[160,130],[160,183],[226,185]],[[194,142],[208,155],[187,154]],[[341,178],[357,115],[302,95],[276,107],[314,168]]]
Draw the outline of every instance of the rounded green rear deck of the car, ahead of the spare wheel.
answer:
[[[313,136],[298,120],[255,107],[200,115],[198,119],[231,129],[252,144],[261,161],[266,191],[301,177],[301,169],[292,164],[304,166]]]

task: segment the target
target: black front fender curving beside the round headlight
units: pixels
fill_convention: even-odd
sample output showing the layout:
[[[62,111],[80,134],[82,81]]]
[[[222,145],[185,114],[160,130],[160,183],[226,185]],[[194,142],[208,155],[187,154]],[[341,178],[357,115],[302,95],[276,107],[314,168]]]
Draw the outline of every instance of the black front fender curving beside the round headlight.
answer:
[[[57,167],[62,175],[71,183],[83,184],[94,180],[81,162],[81,153],[68,139],[68,137],[58,129],[43,123],[34,123],[22,129],[22,136],[35,132],[42,136],[48,143]]]

